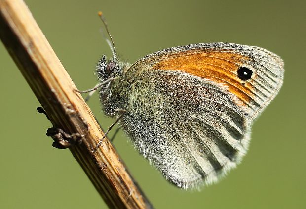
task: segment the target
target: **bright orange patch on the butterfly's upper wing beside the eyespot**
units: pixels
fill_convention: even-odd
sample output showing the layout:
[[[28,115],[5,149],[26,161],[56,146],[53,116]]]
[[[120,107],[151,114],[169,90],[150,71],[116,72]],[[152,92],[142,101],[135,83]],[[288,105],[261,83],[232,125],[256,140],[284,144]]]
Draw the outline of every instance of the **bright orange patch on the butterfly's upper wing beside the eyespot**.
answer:
[[[252,89],[237,77],[237,70],[250,58],[227,51],[189,51],[170,54],[152,68],[156,70],[180,70],[226,85],[245,105],[252,100]],[[242,83],[245,83],[244,85]],[[249,88],[248,88],[249,87]]]

